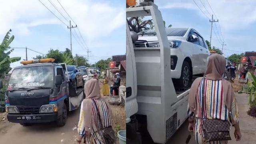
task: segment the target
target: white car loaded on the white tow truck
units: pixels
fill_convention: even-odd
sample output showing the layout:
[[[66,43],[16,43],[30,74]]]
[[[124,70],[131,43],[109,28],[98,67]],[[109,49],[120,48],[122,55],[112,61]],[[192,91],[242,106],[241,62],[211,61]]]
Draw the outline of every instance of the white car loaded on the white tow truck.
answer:
[[[193,28],[166,28],[166,34],[171,48],[171,77],[180,87],[188,88],[193,75],[206,71],[210,56],[206,41]],[[159,47],[154,29],[139,32],[138,36],[135,47]]]

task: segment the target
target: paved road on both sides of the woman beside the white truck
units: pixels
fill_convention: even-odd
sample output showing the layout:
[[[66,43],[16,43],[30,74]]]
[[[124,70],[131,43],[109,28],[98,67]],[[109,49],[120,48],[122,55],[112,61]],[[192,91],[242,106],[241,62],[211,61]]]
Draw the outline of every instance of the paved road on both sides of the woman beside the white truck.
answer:
[[[256,118],[252,118],[246,114],[248,110],[248,96],[246,94],[236,94],[236,99],[238,102],[238,110],[240,114],[240,130],[242,133],[242,140],[236,142],[234,138],[234,128],[232,128],[230,135],[232,140],[228,144],[255,144],[256,143]],[[185,144],[186,138],[188,137],[188,122],[185,122],[176,134],[167,142],[167,144]],[[192,138],[188,144],[196,144],[191,134]]]

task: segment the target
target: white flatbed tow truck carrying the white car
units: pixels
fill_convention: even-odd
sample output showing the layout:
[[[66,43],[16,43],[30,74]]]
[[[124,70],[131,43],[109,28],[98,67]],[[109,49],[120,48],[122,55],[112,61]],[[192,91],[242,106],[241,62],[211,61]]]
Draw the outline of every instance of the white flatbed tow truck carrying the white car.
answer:
[[[188,117],[190,89],[175,88],[172,82],[170,46],[158,6],[143,2],[126,8],[127,18],[141,16],[152,16],[159,47],[135,47],[138,35],[126,22],[127,143],[165,144]]]

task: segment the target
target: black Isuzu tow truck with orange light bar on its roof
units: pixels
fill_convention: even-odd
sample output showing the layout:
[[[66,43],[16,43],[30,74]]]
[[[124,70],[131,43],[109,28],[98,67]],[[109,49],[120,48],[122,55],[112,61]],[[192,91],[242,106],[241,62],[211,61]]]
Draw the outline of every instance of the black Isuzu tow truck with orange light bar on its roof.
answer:
[[[23,126],[42,122],[64,126],[68,111],[80,106],[84,88],[75,92],[66,64],[53,62],[52,58],[29,60],[14,68],[5,92],[8,121]]]

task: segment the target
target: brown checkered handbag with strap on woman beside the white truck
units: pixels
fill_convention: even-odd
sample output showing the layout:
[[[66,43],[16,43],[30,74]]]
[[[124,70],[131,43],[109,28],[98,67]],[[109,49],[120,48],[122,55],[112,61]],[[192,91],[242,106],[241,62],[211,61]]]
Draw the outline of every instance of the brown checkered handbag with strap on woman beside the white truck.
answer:
[[[203,88],[202,88],[202,104],[204,105],[204,78],[203,78]],[[229,131],[230,123],[228,120],[218,120],[218,119],[206,119],[204,118],[204,106],[202,106],[202,128],[203,137],[206,142],[220,141],[220,140],[231,140]]]

